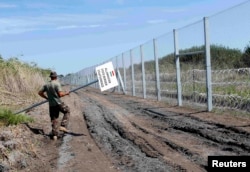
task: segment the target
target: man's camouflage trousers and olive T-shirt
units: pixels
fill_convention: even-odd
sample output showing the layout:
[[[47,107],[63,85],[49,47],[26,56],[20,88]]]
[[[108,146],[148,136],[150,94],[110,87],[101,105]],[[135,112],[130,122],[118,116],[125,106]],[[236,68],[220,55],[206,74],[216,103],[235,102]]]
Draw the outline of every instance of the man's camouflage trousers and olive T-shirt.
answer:
[[[57,80],[51,80],[47,84],[45,84],[41,90],[41,92],[46,92],[49,101],[49,113],[50,119],[52,123],[52,135],[58,136],[59,134],[59,125],[58,125],[58,117],[59,113],[62,112],[64,114],[61,126],[67,128],[68,121],[70,116],[69,107],[62,102],[60,99],[58,92],[62,91],[61,84]]]

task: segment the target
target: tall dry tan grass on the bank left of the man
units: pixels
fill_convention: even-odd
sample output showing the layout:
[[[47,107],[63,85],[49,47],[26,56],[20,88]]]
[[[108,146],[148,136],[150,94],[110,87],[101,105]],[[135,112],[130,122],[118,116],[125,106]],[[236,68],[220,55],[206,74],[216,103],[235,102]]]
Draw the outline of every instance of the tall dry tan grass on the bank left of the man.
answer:
[[[49,71],[17,58],[3,60],[0,56],[0,107],[18,109],[38,100],[37,92]]]

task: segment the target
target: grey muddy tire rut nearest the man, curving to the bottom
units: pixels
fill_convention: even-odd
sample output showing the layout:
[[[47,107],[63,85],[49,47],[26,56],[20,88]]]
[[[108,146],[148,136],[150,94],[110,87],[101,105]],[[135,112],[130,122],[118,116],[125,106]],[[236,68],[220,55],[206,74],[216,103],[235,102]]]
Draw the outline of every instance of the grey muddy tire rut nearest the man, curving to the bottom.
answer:
[[[84,117],[98,146],[122,171],[175,171],[157,158],[147,156],[126,138],[123,124],[104,106],[92,99],[83,100],[88,108]]]

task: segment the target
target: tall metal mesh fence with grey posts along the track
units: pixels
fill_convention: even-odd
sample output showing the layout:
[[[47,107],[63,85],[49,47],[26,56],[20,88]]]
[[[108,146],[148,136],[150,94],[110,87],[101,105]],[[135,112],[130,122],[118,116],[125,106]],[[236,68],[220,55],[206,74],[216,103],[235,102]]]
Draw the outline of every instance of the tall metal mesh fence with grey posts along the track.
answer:
[[[250,69],[244,64],[225,67],[221,57],[233,63],[233,53],[225,56],[216,52],[216,47],[225,47],[243,55],[250,43],[249,29],[250,1],[247,1],[62,80],[71,85],[86,84],[97,78],[96,66],[112,61],[128,95],[178,106],[199,106],[208,111],[213,107],[250,111]],[[121,92],[121,87],[116,91]]]

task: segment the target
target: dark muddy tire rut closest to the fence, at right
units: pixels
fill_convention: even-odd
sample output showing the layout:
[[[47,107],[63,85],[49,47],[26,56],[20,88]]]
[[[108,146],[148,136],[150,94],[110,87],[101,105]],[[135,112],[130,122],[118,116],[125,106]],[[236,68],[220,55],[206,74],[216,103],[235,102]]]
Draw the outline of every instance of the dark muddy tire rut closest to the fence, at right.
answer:
[[[167,112],[159,112],[159,110],[148,110],[154,118],[155,115],[160,116],[161,120],[168,123],[173,129],[180,130],[199,137],[205,138],[209,141],[218,143],[221,149],[232,149],[232,152],[237,152],[239,155],[245,155],[250,152],[250,134],[239,129],[229,127],[222,124],[202,121],[198,118],[191,117],[185,114],[177,116],[167,116]]]

